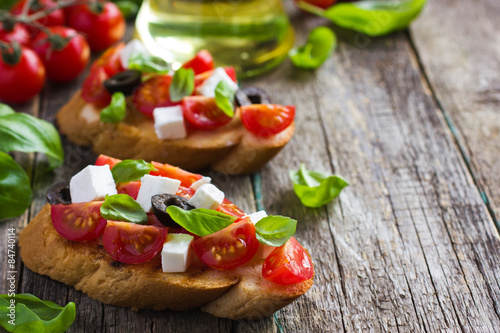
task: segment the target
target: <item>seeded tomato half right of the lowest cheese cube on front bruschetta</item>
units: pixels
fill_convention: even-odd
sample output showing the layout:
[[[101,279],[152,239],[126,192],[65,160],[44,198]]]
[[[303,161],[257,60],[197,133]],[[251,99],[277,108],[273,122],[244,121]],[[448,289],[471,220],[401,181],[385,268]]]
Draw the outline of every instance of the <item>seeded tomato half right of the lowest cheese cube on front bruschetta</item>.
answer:
[[[255,237],[255,226],[247,218],[194,240],[192,246],[198,258],[206,265],[227,270],[252,259],[259,248],[259,241]]]

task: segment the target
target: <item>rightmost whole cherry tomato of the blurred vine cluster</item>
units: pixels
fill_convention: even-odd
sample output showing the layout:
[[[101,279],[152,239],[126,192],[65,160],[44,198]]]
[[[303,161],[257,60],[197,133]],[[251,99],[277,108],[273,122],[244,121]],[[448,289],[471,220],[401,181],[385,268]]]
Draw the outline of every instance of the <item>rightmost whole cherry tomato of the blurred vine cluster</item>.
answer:
[[[87,37],[92,51],[104,50],[125,34],[125,19],[112,2],[93,2],[69,11],[68,25]]]

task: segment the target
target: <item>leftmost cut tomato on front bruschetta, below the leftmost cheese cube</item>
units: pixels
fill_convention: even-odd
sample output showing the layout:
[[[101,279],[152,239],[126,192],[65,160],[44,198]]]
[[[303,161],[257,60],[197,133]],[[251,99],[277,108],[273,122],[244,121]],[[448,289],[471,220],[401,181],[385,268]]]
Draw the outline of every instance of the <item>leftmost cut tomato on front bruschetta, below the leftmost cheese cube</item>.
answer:
[[[100,209],[102,201],[57,204],[50,207],[54,229],[66,239],[84,241],[96,239],[106,227]]]

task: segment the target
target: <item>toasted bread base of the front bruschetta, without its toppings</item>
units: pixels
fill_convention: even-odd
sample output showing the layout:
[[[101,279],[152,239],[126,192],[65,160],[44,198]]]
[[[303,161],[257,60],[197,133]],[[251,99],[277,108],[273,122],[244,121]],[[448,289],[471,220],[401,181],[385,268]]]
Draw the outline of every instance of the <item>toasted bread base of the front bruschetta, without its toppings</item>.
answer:
[[[52,226],[47,204],[21,232],[21,258],[48,275],[111,305],[153,310],[202,310],[217,317],[259,319],[289,304],[312,279],[281,286],[262,278],[262,259],[231,271],[194,263],[185,273],[164,273],[160,256],[135,265],[114,261],[99,240],[73,242]]]

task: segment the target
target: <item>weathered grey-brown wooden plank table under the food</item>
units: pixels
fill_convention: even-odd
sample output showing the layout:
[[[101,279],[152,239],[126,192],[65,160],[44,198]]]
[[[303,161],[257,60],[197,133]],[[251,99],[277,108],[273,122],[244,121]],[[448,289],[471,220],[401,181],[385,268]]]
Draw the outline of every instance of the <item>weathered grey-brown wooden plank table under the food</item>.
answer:
[[[290,15],[300,43],[327,24],[293,8]],[[231,321],[201,311],[107,306],[32,273],[19,257],[18,292],[74,301],[72,332],[498,331],[498,17],[497,0],[430,0],[409,31],[368,38],[334,27],[339,46],[320,69],[301,71],[286,61],[243,83],[298,110],[293,140],[260,173],[211,174],[243,209],[299,221],[296,237],[312,254],[314,286],[274,316]],[[81,81],[49,83],[17,109],[53,121]],[[55,173],[43,156],[18,156],[35,199],[22,217],[0,224],[0,234],[19,232],[50,184],[95,160],[88,149],[64,147],[65,165]],[[324,208],[305,208],[288,177],[301,162],[340,174],[350,186]],[[0,276],[5,290],[4,269]]]

